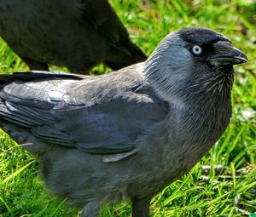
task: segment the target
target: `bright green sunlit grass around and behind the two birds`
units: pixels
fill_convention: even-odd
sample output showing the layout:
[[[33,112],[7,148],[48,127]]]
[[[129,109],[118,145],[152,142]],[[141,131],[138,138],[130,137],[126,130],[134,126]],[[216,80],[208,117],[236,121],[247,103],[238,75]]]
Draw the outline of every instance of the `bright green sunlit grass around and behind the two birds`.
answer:
[[[256,2],[113,0],[113,8],[146,54],[171,31],[204,26],[224,33],[247,54],[236,66],[233,117],[218,143],[189,174],[151,202],[151,216],[251,216],[256,213]],[[0,40],[0,71],[28,70]],[[62,71],[55,66],[53,71]],[[92,73],[106,69],[96,67]],[[38,160],[0,133],[0,216],[79,216],[79,208],[50,196],[38,176]],[[202,165],[210,166],[208,173]],[[222,165],[218,174],[213,168]],[[131,216],[130,203],[102,208],[101,217]]]

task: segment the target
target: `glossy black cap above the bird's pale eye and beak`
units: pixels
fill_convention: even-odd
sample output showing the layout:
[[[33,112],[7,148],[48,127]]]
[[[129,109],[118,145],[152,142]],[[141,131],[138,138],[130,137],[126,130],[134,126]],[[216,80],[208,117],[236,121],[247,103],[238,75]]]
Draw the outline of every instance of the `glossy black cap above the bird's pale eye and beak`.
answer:
[[[216,43],[218,41],[228,41],[231,43],[228,37],[207,28],[184,28],[183,30],[179,31],[179,36],[182,37],[182,39],[186,42],[195,43],[200,46],[208,43]]]

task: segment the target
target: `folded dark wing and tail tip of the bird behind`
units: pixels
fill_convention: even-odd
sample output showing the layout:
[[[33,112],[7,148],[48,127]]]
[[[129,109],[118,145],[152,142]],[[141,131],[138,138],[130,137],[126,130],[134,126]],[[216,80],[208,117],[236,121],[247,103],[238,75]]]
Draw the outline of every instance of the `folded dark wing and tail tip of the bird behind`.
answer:
[[[143,51],[131,42],[125,26],[108,0],[81,0],[76,5],[75,16],[111,45],[105,63],[112,69],[117,70],[147,59]]]

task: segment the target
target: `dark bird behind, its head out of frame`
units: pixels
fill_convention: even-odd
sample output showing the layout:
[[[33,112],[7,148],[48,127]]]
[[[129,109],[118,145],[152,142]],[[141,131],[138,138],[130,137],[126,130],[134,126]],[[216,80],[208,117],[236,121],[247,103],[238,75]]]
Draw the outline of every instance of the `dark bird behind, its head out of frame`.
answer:
[[[108,0],[0,0],[0,36],[31,70],[88,73],[143,62]]]

